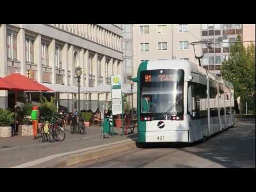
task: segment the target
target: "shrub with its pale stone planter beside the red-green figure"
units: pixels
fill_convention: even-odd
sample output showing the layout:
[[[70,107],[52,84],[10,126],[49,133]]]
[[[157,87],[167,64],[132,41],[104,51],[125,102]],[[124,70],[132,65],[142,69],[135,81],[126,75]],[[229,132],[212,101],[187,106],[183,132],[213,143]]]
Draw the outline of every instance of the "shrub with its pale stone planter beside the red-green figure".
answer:
[[[21,136],[33,136],[33,126],[30,120],[32,103],[22,105],[20,110],[17,110],[19,121],[19,134]]]

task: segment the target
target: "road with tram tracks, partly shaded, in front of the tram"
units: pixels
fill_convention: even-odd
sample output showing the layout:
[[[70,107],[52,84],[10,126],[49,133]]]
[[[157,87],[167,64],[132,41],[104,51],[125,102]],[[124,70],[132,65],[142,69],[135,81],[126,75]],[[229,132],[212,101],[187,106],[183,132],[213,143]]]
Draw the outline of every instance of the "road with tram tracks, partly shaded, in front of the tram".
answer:
[[[255,119],[236,119],[203,143],[151,145],[73,167],[255,167]]]

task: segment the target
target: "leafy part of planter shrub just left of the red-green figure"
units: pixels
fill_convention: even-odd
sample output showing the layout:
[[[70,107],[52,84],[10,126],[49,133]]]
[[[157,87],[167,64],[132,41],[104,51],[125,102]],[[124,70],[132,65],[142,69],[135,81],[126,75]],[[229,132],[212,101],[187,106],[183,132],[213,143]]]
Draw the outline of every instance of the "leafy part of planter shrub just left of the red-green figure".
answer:
[[[21,122],[23,125],[30,125],[30,114],[32,110],[33,104],[32,103],[26,103],[25,105],[22,105],[20,110],[17,110],[18,114],[18,120]]]

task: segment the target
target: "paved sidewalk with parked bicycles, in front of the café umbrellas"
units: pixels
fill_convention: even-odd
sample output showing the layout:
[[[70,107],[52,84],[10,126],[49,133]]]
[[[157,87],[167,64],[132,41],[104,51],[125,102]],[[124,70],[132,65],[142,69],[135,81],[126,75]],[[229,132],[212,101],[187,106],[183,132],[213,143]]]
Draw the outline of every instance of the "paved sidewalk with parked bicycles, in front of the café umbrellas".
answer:
[[[66,139],[62,142],[40,142],[40,133],[38,139],[33,136],[21,137],[19,135],[12,138],[0,138],[0,167],[12,167],[27,162],[38,161],[38,159],[47,158],[52,155],[58,155],[84,149],[93,146],[100,146],[106,143],[125,140],[133,137],[129,134],[122,137],[122,129],[115,128],[116,135],[110,137],[106,135],[105,139],[101,137],[101,126],[90,126],[86,128],[86,134],[70,134],[69,128],[66,131]],[[134,132],[137,132],[135,129]],[[135,133],[136,134],[136,133]],[[34,165],[37,167],[37,164]]]

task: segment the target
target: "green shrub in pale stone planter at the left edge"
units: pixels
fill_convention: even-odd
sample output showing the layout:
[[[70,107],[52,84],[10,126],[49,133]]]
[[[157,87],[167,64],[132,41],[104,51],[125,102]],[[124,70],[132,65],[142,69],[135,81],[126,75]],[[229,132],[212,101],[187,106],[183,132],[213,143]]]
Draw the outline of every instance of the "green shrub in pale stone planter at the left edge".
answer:
[[[14,113],[0,108],[0,138],[12,137],[12,124],[14,123]]]

